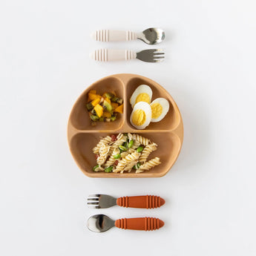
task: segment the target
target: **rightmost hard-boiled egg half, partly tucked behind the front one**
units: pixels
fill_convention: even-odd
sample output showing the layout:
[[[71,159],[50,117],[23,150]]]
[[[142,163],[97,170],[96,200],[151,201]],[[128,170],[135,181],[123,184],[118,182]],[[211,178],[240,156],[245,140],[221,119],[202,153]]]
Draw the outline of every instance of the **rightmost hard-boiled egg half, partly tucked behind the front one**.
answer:
[[[164,98],[154,99],[150,106],[152,113],[151,122],[161,121],[170,108],[168,100]]]

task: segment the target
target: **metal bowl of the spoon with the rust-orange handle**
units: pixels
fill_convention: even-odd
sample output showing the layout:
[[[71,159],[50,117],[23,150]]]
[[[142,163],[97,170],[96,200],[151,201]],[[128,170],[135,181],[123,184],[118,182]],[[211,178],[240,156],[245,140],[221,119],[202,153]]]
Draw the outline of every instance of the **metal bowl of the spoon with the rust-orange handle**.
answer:
[[[96,214],[89,217],[87,227],[92,232],[105,232],[115,226],[115,221],[104,214]]]

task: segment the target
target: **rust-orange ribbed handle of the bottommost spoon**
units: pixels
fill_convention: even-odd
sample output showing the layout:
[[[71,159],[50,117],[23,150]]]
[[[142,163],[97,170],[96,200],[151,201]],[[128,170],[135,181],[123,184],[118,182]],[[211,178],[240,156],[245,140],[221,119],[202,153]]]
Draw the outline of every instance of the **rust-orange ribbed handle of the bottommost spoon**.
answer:
[[[156,230],[164,226],[163,220],[155,217],[137,217],[131,219],[119,219],[115,221],[115,226],[119,229],[134,229],[134,230]]]

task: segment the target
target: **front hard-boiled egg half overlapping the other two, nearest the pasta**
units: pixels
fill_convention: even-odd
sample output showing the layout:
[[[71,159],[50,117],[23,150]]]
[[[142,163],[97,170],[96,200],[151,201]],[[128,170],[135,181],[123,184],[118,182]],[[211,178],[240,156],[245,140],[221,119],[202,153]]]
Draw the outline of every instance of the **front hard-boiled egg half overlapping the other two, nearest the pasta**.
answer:
[[[130,122],[137,129],[145,129],[151,122],[151,106],[147,102],[138,102],[131,112]]]

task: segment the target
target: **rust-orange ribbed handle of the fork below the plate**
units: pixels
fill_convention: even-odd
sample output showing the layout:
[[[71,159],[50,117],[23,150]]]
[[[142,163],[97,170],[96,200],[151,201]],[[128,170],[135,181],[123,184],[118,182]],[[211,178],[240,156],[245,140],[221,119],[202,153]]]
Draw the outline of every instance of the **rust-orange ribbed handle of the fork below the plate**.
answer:
[[[122,207],[153,209],[163,206],[165,200],[157,196],[119,197],[116,204]]]

